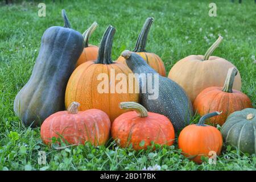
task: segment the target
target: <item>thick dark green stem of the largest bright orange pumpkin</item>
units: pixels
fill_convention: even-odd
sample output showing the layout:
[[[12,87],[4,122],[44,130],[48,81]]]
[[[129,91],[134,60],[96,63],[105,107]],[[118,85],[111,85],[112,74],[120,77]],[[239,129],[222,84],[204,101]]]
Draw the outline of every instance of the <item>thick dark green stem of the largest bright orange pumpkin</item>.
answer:
[[[114,34],[115,34],[115,28],[110,25],[105,31],[101,39],[101,45],[100,45],[100,48],[98,49],[98,59],[95,62],[96,64],[112,64],[113,63],[111,59],[111,53],[112,53],[112,44],[113,44]]]

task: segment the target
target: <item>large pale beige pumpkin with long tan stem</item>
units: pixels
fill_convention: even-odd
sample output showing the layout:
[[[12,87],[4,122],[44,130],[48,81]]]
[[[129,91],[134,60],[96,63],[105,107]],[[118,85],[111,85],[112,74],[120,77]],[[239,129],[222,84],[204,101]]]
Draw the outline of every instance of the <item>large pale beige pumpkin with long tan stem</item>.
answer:
[[[221,57],[210,56],[221,43],[221,40],[222,37],[220,36],[204,56],[190,55],[177,61],[169,72],[168,77],[185,90],[192,103],[203,89],[210,86],[224,85],[228,69],[235,67],[232,63]],[[241,90],[241,76],[239,72],[234,80],[234,89]]]

